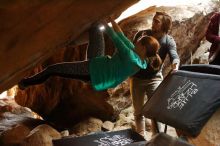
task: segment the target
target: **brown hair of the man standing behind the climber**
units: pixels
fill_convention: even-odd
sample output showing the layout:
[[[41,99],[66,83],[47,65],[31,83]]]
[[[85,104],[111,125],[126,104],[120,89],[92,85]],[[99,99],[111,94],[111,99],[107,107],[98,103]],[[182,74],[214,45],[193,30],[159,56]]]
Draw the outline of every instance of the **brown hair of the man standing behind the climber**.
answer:
[[[157,15],[163,16],[163,19],[162,19],[162,31],[165,32],[165,33],[168,33],[169,30],[172,27],[172,18],[171,18],[171,16],[168,15],[167,13],[165,13],[165,12],[156,12],[154,17],[157,16]]]

